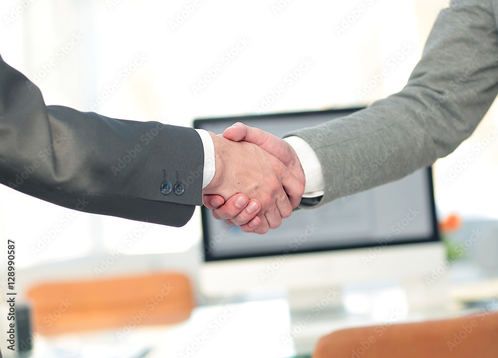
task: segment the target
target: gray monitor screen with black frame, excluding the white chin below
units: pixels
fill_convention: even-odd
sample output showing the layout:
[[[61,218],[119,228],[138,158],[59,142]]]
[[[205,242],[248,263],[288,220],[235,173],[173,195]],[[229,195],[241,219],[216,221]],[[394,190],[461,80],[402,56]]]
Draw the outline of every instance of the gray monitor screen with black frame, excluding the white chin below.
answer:
[[[235,122],[258,127],[279,137],[359,108],[319,112],[199,119],[195,128],[216,134]],[[264,235],[243,232],[217,220],[202,207],[206,261],[285,255],[303,252],[437,241],[432,174],[421,169],[384,184],[311,210],[295,210],[280,227]]]

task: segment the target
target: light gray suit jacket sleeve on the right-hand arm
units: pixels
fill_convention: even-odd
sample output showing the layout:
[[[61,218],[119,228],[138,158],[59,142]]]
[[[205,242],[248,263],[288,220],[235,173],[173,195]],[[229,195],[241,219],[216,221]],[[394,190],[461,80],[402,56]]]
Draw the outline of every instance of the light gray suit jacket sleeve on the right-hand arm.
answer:
[[[498,93],[497,7],[495,0],[452,2],[401,92],[287,134],[306,140],[321,162],[318,205],[430,166],[472,134]]]

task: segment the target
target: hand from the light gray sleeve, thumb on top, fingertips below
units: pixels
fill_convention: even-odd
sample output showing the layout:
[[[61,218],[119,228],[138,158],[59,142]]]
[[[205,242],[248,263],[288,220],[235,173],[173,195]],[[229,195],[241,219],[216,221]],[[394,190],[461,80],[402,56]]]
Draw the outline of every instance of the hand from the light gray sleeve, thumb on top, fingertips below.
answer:
[[[305,184],[301,163],[299,162],[294,149],[283,139],[258,128],[246,126],[240,122],[227,128],[225,132],[223,132],[223,136],[236,142],[246,141],[253,143],[261,149],[264,149],[266,152],[280,160],[303,185]],[[213,198],[214,197],[211,195],[204,195],[203,202],[208,208],[213,209],[214,217],[226,219],[229,224],[238,225],[246,232],[253,231],[257,227],[258,217],[249,210],[249,205],[236,205],[235,196],[230,198],[230,200],[227,200],[226,203],[218,201],[216,202],[218,205],[210,205],[209,203]],[[299,197],[299,201],[300,200],[301,198]],[[297,207],[297,205],[293,206],[293,208],[295,207]]]

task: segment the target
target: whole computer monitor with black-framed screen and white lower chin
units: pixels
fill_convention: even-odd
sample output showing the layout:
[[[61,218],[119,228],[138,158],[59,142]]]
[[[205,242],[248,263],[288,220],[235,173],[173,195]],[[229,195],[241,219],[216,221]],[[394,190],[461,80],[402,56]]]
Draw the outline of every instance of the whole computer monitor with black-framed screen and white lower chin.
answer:
[[[357,110],[199,119],[194,127],[218,134],[240,121],[281,137]],[[200,287],[208,297],[423,277],[445,258],[431,168],[316,209],[296,210],[264,235],[217,220],[205,207],[202,225]]]

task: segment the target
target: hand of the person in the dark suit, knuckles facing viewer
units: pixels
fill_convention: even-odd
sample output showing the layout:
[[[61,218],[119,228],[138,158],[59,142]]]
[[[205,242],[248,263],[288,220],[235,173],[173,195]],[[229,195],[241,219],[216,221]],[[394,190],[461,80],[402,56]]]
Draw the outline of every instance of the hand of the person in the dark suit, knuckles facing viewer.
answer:
[[[269,228],[278,227],[282,218],[288,217],[292,209],[299,205],[304,191],[304,184],[296,179],[287,167],[262,150],[258,146],[248,142],[233,142],[223,136],[216,136],[210,133],[215,146],[216,173],[213,180],[203,189],[203,194],[219,194],[230,205],[237,205],[237,200],[242,200],[241,195],[231,198],[234,194],[244,192],[256,200],[247,201],[247,206],[242,201],[239,202],[245,211],[255,209],[257,212],[256,221],[259,225],[254,230],[249,224],[241,227],[245,231],[265,233]],[[244,196],[242,196],[244,197]],[[245,197],[247,199],[247,197]],[[211,202],[213,197],[204,196],[204,202]],[[254,208],[254,204],[259,204]],[[230,207],[230,206],[229,206]],[[230,210],[214,213],[215,217],[228,218]],[[242,213],[238,220],[247,220],[241,223],[246,224],[252,221],[249,218],[254,212]],[[223,215],[224,213],[224,215]],[[254,221],[252,221],[254,224]]]

